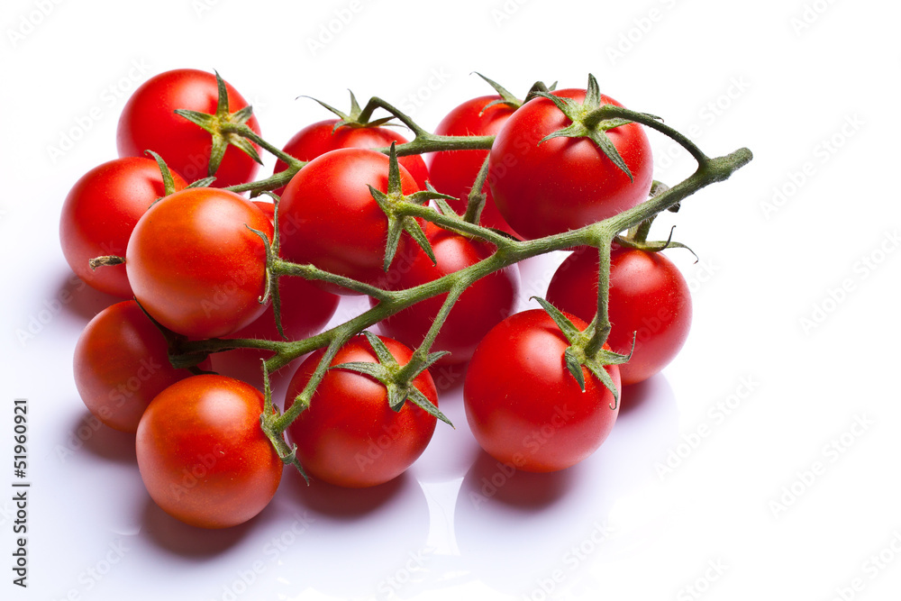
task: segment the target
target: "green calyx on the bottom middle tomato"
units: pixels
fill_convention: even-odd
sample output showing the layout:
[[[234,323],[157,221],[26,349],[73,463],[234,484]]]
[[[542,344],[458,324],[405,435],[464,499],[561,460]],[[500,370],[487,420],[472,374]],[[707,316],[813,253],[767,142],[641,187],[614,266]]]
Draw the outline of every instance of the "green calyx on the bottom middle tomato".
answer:
[[[453,427],[451,420],[442,414],[438,407],[432,405],[432,401],[413,385],[414,378],[426,369],[429,369],[435,361],[448,353],[446,351],[430,353],[421,364],[416,365],[414,369],[408,370],[405,369],[405,366],[397,363],[394,355],[385,346],[385,342],[381,341],[377,335],[369,332],[369,330],[364,331],[363,334],[369,341],[372,351],[375,352],[378,363],[351,361],[333,365],[329,369],[347,369],[377,380],[387,390],[388,406],[391,407],[392,411],[400,411],[404,404],[409,401],[426,413]]]

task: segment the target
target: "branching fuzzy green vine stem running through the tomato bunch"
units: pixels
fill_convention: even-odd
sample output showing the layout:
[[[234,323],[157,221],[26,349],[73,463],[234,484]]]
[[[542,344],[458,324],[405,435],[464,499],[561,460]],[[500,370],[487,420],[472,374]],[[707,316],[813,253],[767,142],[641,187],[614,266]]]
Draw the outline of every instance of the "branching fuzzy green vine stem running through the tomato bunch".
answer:
[[[369,100],[369,103],[361,112],[360,118],[369,119],[372,112],[377,108],[382,108],[390,114],[393,114],[415,134],[413,141],[396,146],[397,156],[438,150],[490,150],[491,143],[494,141],[494,136],[466,137],[433,135],[432,133],[423,130],[423,128],[414,123],[410,117],[401,113],[394,106],[375,97]],[[687,196],[693,195],[699,189],[729,178],[733,172],[742,168],[752,159],[751,150],[746,148],[735,150],[730,154],[711,159],[684,135],[673,130],[669,126],[660,123],[659,119],[650,114],[637,113],[613,105],[604,105],[597,109],[592,115],[589,115],[589,120],[596,119],[597,121],[602,121],[610,118],[623,118],[636,123],[642,123],[651,129],[669,136],[669,138],[677,141],[686,148],[686,150],[696,159],[698,163],[696,171],[674,187],[666,188],[662,185],[654,187],[654,194],[652,194],[648,200],[621,214],[616,214],[601,222],[591,223],[578,230],[561,232],[529,241],[514,240],[502,233],[498,233],[478,225],[478,223],[474,223],[471,213],[474,213],[475,208],[478,208],[478,199],[470,198],[469,205],[474,207],[474,210],[468,210],[465,217],[455,214],[446,204],[439,203],[441,210],[437,210],[430,206],[403,200],[398,202],[394,208],[396,217],[417,217],[435,223],[442,228],[477,237],[493,244],[496,247],[495,252],[486,259],[481,260],[468,268],[460,269],[460,271],[451,273],[442,278],[432,280],[431,282],[420,286],[393,291],[373,287],[369,284],[350,278],[343,278],[327,271],[323,271],[322,269],[317,269],[312,265],[299,265],[278,259],[278,257],[272,257],[268,269],[271,270],[273,276],[276,278],[282,276],[302,277],[331,282],[332,284],[350,288],[361,294],[372,296],[378,300],[378,304],[371,307],[368,311],[332,327],[330,330],[318,333],[303,340],[268,341],[257,339],[212,339],[206,341],[188,341],[181,344],[179,351],[185,353],[185,355],[193,355],[194,359],[196,359],[197,354],[226,351],[235,348],[254,348],[271,351],[272,356],[264,362],[264,373],[268,374],[268,372],[280,369],[287,365],[291,360],[295,360],[308,352],[327,347],[322,360],[314,372],[313,378],[310,379],[310,382],[306,385],[301,394],[297,396],[294,405],[292,405],[285,414],[264,414],[260,418],[263,430],[273,441],[273,444],[276,446],[279,455],[283,460],[286,462],[296,462],[294,459],[294,452],[287,449],[287,445],[281,435],[284,433],[288,424],[294,421],[296,416],[299,415],[306,406],[309,406],[315,388],[322,380],[326,370],[334,359],[334,356],[341,346],[349,341],[354,335],[366,330],[390,315],[396,314],[411,305],[415,305],[425,298],[442,294],[448,295],[441,307],[440,314],[432,324],[432,328],[428,332],[425,340],[420,347],[414,351],[414,359],[405,366],[405,372],[414,373],[417,371],[418,367],[421,367],[428,359],[432,342],[435,340],[438,332],[440,332],[441,325],[444,323],[447,315],[450,314],[451,308],[456,300],[463,291],[478,281],[478,279],[485,278],[487,275],[499,269],[504,269],[514,263],[553,250],[568,250],[578,246],[592,246],[599,250],[601,266],[599,269],[597,314],[594,321],[589,326],[589,328],[591,328],[591,336],[587,342],[585,351],[590,357],[596,356],[601,352],[607,334],[610,331],[610,323],[607,317],[607,298],[609,288],[610,247],[615,236],[626,230],[634,228],[644,229],[648,227],[651,220],[657,214],[677,207],[681,201],[687,198]],[[279,159],[285,160],[288,164],[288,168],[287,170],[276,174],[276,176],[227,189],[231,189],[235,192],[250,191],[251,193],[259,193],[265,190],[274,189],[287,183],[287,181],[305,165],[304,161],[287,157],[283,151],[278,150],[271,144],[260,139],[259,136],[255,132],[250,131],[249,128],[238,127],[236,128],[236,132],[246,136],[251,141],[256,142],[261,148],[272,152]],[[387,148],[377,150],[385,153],[389,152],[389,149]],[[487,169],[483,166],[483,169],[479,173],[478,181],[484,181],[486,176]],[[479,187],[478,190],[480,191],[481,187]],[[646,225],[642,225],[642,223],[645,223]],[[177,358],[175,359],[177,360]]]

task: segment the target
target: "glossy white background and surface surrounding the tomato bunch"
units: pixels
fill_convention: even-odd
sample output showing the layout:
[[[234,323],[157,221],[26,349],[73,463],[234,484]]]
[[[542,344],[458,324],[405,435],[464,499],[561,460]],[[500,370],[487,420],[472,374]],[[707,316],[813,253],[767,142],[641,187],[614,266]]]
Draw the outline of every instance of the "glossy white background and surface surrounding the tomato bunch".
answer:
[[[5,0],[0,597],[896,598],[899,13],[873,0]],[[351,88],[432,128],[490,93],[472,71],[520,96],[591,72],[708,154],[755,159],[667,218],[700,257],[668,251],[692,283],[691,336],[626,391],[632,408],[592,458],[499,472],[469,435],[458,375],[441,397],[457,429],[439,428],[395,483],[305,489],[286,472],[250,524],[197,531],[152,505],[132,439],[86,420],[71,354],[113,299],[71,279],[57,233],[68,188],[115,158],[128,93],[181,67],[218,69],[277,144],[328,116],[296,96],[346,107]],[[655,178],[687,176],[685,155],[651,139]],[[543,293],[555,260],[523,269],[524,294]],[[30,411],[26,590],[10,569],[14,398]]]

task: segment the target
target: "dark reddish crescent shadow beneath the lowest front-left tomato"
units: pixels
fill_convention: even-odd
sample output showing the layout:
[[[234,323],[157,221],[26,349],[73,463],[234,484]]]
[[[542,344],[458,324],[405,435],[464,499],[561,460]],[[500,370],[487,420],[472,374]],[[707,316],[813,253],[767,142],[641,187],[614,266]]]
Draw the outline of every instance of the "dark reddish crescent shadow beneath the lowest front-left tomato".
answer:
[[[219,555],[240,542],[250,533],[256,519],[220,530],[197,528],[179,522],[147,496],[141,530],[163,549],[199,560]]]

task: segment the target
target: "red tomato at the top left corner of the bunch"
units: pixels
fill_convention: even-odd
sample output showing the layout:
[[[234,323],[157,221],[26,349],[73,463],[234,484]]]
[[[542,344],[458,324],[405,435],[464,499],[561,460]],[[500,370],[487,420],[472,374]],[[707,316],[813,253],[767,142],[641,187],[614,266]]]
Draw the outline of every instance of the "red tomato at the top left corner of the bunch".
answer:
[[[229,112],[248,105],[228,83]],[[153,150],[166,160],[169,168],[190,181],[205,178],[210,163],[212,136],[199,125],[173,113],[187,109],[214,114],[219,91],[213,73],[179,68],[150,77],[134,91],[119,116],[116,147],[120,157],[141,157]],[[257,118],[251,116],[248,127],[259,134]],[[259,149],[258,149],[259,150]],[[215,173],[214,186],[227,187],[253,179],[259,164],[241,150],[229,146]]]

